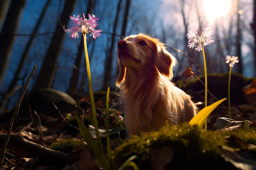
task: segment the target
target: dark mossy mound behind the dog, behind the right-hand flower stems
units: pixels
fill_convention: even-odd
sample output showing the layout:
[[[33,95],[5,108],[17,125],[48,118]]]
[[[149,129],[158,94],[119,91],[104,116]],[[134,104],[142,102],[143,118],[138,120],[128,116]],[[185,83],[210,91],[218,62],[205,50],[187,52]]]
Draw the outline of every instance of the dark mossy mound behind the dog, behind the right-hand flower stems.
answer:
[[[199,76],[200,80],[204,83],[204,75]],[[247,103],[245,97],[243,96],[243,87],[247,86],[253,82],[255,78],[246,78],[241,74],[232,73],[230,79],[230,99],[233,104],[243,104]],[[177,86],[181,85],[180,88],[193,96],[195,100],[202,100],[198,96],[198,92],[203,92],[202,96],[204,97],[204,85],[200,82],[199,79],[195,78],[193,80],[185,80],[180,84],[179,81],[175,82]],[[208,90],[215,96],[217,99],[223,99],[228,97],[228,80],[229,73],[223,74],[208,74]],[[211,95],[208,95],[211,97]],[[225,101],[227,102],[227,101]]]

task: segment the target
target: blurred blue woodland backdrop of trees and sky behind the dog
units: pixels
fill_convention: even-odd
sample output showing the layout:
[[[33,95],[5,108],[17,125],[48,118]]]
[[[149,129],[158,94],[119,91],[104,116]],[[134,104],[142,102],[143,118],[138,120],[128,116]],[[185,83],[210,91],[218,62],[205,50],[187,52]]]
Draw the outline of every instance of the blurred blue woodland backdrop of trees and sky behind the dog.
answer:
[[[179,78],[188,66],[203,74],[203,57],[188,48],[187,32],[212,27],[215,42],[205,48],[208,73],[228,72],[225,57],[232,55],[240,57],[233,72],[256,76],[256,1],[231,2],[228,15],[212,22],[202,0],[1,0],[0,112],[14,107],[33,65],[38,68],[28,91],[54,88],[72,97],[88,92],[81,35],[73,40],[64,32],[69,15],[82,12],[98,16],[97,29],[102,29],[100,37],[87,41],[94,91],[115,86],[117,41],[139,32],[167,44],[177,58]]]

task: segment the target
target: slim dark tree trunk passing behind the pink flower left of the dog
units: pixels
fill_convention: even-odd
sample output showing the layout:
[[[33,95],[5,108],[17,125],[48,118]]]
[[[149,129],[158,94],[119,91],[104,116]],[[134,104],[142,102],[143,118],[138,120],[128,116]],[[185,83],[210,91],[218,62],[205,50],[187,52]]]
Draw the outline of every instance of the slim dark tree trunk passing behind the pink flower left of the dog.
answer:
[[[89,0],[86,14],[91,14],[93,7],[94,7],[93,0]],[[68,94],[71,97],[73,97],[74,99],[76,99],[78,97],[77,96],[78,95],[77,94],[77,88],[78,88],[77,85],[79,83],[79,73],[80,73],[80,68],[81,68],[82,54],[84,54],[84,39],[81,38],[79,50],[77,52],[76,61],[75,61],[74,68],[73,68],[72,77],[69,82],[69,88],[68,88]]]

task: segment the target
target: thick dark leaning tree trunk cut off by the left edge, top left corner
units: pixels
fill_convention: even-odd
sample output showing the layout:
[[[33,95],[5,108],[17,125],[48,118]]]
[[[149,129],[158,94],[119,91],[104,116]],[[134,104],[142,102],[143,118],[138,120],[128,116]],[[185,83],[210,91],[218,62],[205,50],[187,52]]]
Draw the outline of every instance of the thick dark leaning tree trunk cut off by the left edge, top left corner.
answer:
[[[11,1],[9,11],[6,15],[5,23],[2,27],[0,36],[0,87],[8,67],[9,59],[11,56],[11,49],[13,48],[13,43],[15,40],[14,34],[18,30],[19,19],[25,3],[26,0]]]

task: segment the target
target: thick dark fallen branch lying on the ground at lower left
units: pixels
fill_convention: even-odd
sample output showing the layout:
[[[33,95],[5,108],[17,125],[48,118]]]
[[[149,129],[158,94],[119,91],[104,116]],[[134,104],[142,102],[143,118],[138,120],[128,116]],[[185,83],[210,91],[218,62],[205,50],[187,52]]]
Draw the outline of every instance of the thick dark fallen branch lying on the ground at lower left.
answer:
[[[5,141],[6,134],[0,134],[0,143]],[[40,158],[57,161],[65,164],[73,164],[79,160],[71,155],[65,154],[64,152],[51,150],[49,148],[43,147],[38,143],[34,143],[24,139],[22,135],[11,134],[8,143],[9,147],[19,148],[22,151],[30,152],[32,155],[39,156]]]

